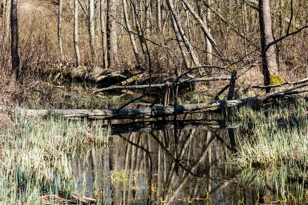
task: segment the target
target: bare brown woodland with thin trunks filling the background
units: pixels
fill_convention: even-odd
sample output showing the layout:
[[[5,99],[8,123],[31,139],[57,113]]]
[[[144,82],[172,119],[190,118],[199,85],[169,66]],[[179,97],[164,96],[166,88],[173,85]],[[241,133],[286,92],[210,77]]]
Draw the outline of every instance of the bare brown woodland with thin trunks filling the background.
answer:
[[[246,71],[237,81],[240,85],[280,84],[308,74],[305,1],[20,0],[17,4],[2,0],[0,4],[2,83],[18,83],[19,93],[35,90],[40,80],[54,80],[59,72],[62,77],[94,80],[106,70],[128,69],[131,75],[147,73],[151,84],[164,83],[193,67],[198,69],[187,72],[189,78]],[[10,52],[12,5],[18,10],[18,64]],[[18,100],[23,97],[18,95]]]

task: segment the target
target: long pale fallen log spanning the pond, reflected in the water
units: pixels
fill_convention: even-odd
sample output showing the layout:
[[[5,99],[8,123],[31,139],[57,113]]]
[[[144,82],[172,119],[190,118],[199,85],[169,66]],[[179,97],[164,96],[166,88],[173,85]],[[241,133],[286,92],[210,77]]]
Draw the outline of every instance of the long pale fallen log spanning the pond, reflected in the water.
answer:
[[[207,111],[217,111],[223,108],[236,107],[246,104],[248,101],[258,100],[258,98],[245,98],[237,100],[220,100],[213,103],[187,104],[176,107],[177,114],[199,113]],[[141,119],[157,118],[175,115],[174,106],[140,108],[140,109],[104,109],[104,110],[30,110],[24,108],[15,108],[15,113],[25,117],[37,117],[47,115],[61,115],[64,118],[87,118],[90,120],[99,119]]]

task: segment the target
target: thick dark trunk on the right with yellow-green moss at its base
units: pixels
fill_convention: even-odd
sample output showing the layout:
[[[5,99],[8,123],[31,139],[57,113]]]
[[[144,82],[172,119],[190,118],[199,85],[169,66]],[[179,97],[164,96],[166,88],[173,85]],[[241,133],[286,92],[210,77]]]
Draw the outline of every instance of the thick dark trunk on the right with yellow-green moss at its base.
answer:
[[[259,17],[264,85],[268,86],[271,84],[271,77],[278,75],[275,47],[271,46],[265,51],[266,45],[274,41],[269,0],[259,0]]]

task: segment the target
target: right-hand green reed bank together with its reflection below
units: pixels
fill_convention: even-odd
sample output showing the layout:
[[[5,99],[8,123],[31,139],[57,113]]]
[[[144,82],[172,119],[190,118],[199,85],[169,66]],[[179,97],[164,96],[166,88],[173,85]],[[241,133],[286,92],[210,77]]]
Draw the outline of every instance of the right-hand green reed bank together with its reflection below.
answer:
[[[259,202],[305,203],[308,200],[308,104],[287,101],[258,110],[240,108],[227,118],[236,130],[237,153],[230,157],[241,170],[242,185],[258,190]]]

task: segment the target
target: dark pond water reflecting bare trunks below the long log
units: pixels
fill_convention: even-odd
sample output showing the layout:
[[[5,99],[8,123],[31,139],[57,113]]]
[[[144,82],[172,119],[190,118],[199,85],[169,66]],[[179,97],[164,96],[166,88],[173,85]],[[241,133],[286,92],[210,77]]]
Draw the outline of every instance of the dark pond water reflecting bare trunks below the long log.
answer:
[[[93,146],[72,167],[79,190],[105,204],[266,203],[287,180],[287,170],[279,172],[284,178],[264,178],[260,170],[228,163],[239,145],[238,125],[156,120],[91,126],[111,128],[109,146]]]

